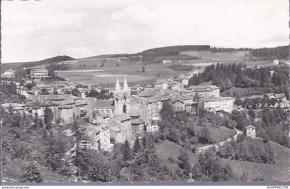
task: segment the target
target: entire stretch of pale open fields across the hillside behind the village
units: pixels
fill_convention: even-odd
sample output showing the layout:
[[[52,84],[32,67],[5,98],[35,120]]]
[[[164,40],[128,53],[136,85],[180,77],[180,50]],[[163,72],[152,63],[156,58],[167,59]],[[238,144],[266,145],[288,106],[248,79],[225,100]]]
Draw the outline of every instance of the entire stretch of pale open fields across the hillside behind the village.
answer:
[[[123,58],[106,58],[104,66],[100,67],[104,61],[101,57],[88,57],[85,59],[78,59],[77,62],[69,62],[71,66],[70,72],[59,72],[60,77],[64,77],[70,81],[83,83],[90,86],[113,86],[116,81],[116,76],[119,75],[119,80],[122,81],[122,76],[127,76],[129,84],[138,83],[142,86],[152,84],[156,79],[164,79],[168,77],[177,77],[180,74],[187,74],[189,71],[174,71],[168,66],[188,64],[193,66],[190,72],[202,71],[206,66],[211,65],[213,62],[220,63],[240,63],[243,62],[246,52],[217,52],[212,53],[209,51],[202,52],[181,52],[187,56],[200,57],[200,59],[183,59],[173,63],[153,63],[145,66],[146,71],[142,72],[142,62],[128,61],[126,57]],[[198,56],[197,56],[198,55]],[[164,59],[171,59],[171,57],[163,57]],[[117,60],[121,60],[118,62]],[[161,61],[161,60],[160,60]],[[249,66],[253,65],[270,65],[271,61],[246,61]],[[119,64],[119,66],[117,66]],[[81,67],[80,67],[81,66]],[[77,70],[77,72],[71,72]],[[98,70],[95,72],[81,71],[81,70]],[[101,70],[101,71],[99,71]]]

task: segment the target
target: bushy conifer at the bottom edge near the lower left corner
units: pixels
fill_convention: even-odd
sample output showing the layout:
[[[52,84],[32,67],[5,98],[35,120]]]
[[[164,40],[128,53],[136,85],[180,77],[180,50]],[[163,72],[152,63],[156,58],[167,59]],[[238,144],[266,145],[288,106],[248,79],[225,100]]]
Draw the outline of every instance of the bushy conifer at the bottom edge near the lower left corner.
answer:
[[[43,179],[41,177],[40,171],[37,169],[37,167],[33,164],[30,163],[29,166],[23,167],[22,168],[22,175],[19,178],[20,182],[42,182]]]

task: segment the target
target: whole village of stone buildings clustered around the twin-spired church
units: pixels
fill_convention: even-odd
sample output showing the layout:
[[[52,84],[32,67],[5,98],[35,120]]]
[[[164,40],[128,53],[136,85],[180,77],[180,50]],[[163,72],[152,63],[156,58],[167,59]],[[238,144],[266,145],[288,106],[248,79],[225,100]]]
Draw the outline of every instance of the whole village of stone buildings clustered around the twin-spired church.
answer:
[[[3,110],[23,113],[44,120],[45,112],[52,112],[51,123],[65,126],[76,119],[84,119],[89,146],[95,150],[113,150],[115,143],[126,140],[133,145],[136,137],[142,138],[145,132],[159,130],[160,110],[164,101],[170,102],[175,112],[197,115],[200,110],[221,114],[241,110],[235,103],[237,97],[221,97],[218,86],[188,86],[192,74],[177,78],[157,79],[144,87],[128,86],[126,76],[117,76],[115,88],[94,88],[70,81],[46,82],[48,70],[39,66],[31,68],[30,74],[20,82],[11,81],[14,70],[1,75],[2,83],[14,83],[17,92],[26,97],[26,103],[2,103]],[[120,83],[122,81],[122,84]],[[77,89],[79,95],[72,90]],[[108,94],[107,99],[88,97],[91,90]],[[110,95],[109,95],[110,94]],[[253,95],[247,99],[263,98]],[[276,99],[274,107],[289,108],[285,94],[268,93],[269,99]],[[242,100],[246,99],[245,97]],[[248,126],[253,130],[253,126]],[[64,130],[71,135],[71,130]],[[248,135],[248,130],[247,130]],[[253,133],[249,132],[249,137]]]

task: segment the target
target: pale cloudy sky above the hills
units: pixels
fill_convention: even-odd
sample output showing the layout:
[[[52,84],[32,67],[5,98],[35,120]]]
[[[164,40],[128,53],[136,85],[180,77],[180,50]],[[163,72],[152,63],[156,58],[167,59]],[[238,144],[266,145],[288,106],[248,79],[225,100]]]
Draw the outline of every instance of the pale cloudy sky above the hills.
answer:
[[[289,44],[288,0],[1,1],[1,62]]]

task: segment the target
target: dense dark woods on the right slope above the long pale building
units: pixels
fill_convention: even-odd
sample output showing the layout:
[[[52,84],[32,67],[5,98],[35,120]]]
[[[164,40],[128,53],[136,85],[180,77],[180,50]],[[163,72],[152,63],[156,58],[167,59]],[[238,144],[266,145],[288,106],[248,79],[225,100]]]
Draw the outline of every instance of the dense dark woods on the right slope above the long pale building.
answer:
[[[245,64],[220,64],[207,66],[204,72],[189,79],[188,86],[197,86],[204,81],[212,81],[221,92],[232,87],[255,88],[262,92],[285,93],[289,97],[287,86],[289,74],[287,66],[275,68],[247,68]],[[235,94],[239,97],[240,94]]]

